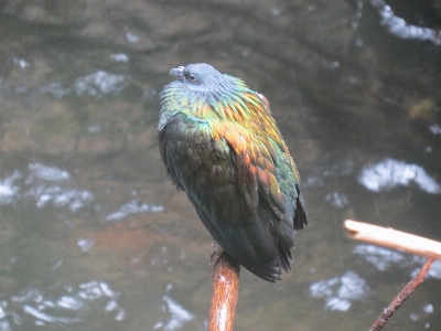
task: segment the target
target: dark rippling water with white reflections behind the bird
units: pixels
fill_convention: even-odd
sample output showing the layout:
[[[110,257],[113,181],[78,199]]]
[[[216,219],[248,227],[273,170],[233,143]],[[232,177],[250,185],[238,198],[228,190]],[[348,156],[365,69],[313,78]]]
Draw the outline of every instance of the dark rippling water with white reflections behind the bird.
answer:
[[[3,1],[0,330],[204,330],[211,238],[158,151],[158,94],[208,62],[265,93],[310,225],[236,330],[367,330],[441,239],[439,1]],[[388,330],[441,329],[441,265]]]

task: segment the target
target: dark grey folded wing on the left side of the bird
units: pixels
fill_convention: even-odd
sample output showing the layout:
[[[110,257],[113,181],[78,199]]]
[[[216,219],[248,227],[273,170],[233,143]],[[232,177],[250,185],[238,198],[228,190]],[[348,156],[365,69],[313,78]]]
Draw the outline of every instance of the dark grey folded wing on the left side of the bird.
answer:
[[[229,135],[229,134],[228,134]],[[239,182],[237,156],[207,121],[178,114],[159,132],[168,172],[218,244],[257,276],[276,281],[281,268],[273,228],[258,211],[258,183]],[[246,189],[247,185],[249,190]],[[271,213],[268,209],[261,210]]]

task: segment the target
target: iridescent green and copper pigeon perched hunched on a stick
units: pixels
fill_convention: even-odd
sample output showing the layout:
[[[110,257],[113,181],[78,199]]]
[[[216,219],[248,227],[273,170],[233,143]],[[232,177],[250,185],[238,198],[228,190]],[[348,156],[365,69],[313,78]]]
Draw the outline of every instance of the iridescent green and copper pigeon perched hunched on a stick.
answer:
[[[158,122],[168,175],[222,252],[265,280],[280,280],[308,215],[268,99],[205,63],[170,75],[178,78],[160,94]]]

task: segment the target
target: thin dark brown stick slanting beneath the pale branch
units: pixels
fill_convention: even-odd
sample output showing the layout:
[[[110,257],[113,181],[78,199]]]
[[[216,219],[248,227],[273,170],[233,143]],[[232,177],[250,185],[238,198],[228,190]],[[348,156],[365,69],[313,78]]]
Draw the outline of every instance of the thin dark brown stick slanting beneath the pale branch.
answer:
[[[418,274],[410,280],[406,287],[398,293],[398,296],[394,299],[390,305],[385,308],[375,323],[372,325],[369,331],[378,331],[381,330],[384,325],[386,325],[387,321],[391,318],[391,316],[397,311],[397,309],[410,297],[410,295],[415,291],[415,289],[424,281],[427,274],[429,273],[432,264],[434,263],[433,258],[428,258]]]

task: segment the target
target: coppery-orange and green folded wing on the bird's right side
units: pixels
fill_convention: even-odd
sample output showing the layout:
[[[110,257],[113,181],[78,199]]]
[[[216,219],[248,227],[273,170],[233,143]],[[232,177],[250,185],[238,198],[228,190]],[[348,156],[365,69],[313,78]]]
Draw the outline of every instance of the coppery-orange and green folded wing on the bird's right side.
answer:
[[[224,138],[235,151],[237,183],[250,213],[270,222],[287,250],[294,246],[293,229],[306,223],[295,166],[281,137],[275,141],[263,132],[251,132],[238,122],[218,121],[215,138]],[[262,207],[272,213],[263,212]]]

